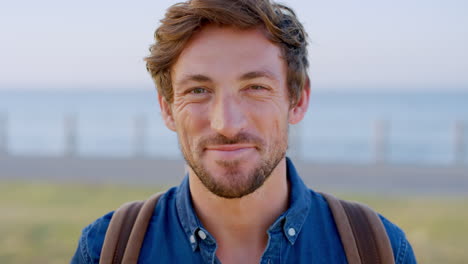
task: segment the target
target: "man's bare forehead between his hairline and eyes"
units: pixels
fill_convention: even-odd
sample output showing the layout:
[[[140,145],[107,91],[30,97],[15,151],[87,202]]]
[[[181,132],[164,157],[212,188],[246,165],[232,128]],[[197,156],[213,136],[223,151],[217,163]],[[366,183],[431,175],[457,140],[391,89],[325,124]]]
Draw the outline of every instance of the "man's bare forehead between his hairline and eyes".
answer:
[[[228,71],[228,72],[226,72]],[[258,29],[207,26],[198,32],[171,68],[173,81],[209,81],[221,73],[235,79],[282,79],[285,61],[280,48]]]

